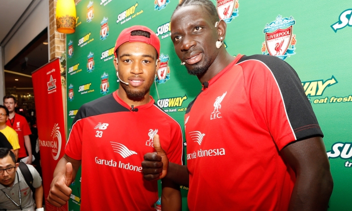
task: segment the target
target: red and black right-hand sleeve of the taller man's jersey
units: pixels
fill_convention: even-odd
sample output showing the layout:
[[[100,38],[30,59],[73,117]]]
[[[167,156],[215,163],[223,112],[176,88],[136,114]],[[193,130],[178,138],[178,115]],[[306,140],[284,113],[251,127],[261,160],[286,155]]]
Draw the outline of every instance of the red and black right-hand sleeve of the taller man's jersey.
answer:
[[[269,130],[279,150],[292,141],[323,137],[301,81],[289,64],[259,55],[241,66],[257,123]]]

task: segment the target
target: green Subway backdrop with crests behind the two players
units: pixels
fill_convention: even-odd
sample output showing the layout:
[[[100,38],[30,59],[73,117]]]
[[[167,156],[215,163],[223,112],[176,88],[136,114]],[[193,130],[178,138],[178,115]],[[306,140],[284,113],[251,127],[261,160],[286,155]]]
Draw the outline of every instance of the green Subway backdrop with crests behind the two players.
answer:
[[[227,22],[225,46],[231,55],[276,55],[297,71],[325,135],[334,179],[328,210],[352,210],[349,202],[352,188],[350,3],[337,0],[212,2]],[[161,67],[155,80],[159,97],[155,86],[151,87],[151,94],[165,112],[184,126],[187,105],[199,93],[201,84],[180,64],[169,37],[170,17],[178,3],[178,0],[82,0],[77,4],[76,32],[66,37],[68,131],[83,103],[118,88],[113,65],[114,45],[119,33],[133,25],[147,26],[158,35]],[[79,173],[71,185],[69,210],[79,210],[80,181]],[[183,210],[188,210],[188,187],[181,186],[181,189]]]

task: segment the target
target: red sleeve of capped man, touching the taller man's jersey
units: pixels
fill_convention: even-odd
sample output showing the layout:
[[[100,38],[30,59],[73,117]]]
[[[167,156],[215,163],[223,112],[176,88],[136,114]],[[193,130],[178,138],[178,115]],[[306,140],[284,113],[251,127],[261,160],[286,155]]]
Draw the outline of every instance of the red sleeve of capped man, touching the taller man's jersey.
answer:
[[[184,147],[183,147],[183,134],[180,124],[175,120],[170,124],[170,145],[166,151],[166,156],[169,162],[184,165]]]

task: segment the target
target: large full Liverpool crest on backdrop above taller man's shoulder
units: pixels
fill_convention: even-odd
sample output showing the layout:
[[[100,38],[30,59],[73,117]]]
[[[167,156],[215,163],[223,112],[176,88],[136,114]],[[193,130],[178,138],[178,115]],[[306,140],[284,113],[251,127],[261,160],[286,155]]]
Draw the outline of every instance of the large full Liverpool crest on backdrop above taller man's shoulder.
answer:
[[[296,35],[293,34],[295,19],[278,16],[275,21],[267,24],[263,30],[265,42],[262,43],[262,54],[277,56],[282,60],[296,54]]]

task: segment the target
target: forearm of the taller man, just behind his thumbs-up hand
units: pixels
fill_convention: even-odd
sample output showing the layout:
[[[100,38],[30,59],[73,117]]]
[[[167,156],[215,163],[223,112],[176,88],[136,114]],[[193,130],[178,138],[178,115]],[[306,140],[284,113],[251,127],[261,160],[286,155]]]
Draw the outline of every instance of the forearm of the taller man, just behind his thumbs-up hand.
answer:
[[[166,178],[186,187],[188,187],[190,183],[190,174],[187,166],[178,165],[175,163],[168,164]]]

